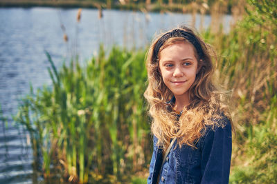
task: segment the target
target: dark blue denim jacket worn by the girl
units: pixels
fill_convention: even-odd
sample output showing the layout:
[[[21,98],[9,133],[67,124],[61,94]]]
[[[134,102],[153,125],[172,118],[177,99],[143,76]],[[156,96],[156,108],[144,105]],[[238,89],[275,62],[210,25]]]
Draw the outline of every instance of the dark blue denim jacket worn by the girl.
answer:
[[[226,125],[215,129],[208,128],[197,142],[197,148],[188,145],[175,148],[175,141],[163,165],[163,150],[157,146],[157,138],[154,136],[148,183],[229,183],[231,123],[224,116],[220,121],[224,121]]]

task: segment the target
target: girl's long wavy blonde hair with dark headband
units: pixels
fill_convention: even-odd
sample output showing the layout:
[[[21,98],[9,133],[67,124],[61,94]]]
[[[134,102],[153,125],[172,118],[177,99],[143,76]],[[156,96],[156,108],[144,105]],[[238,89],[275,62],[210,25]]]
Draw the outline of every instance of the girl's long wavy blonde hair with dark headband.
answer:
[[[168,103],[174,95],[163,83],[159,54],[163,48],[180,41],[194,46],[201,69],[189,89],[190,104],[177,118],[176,112],[172,111],[172,103]],[[225,95],[217,90],[212,81],[212,56],[215,56],[215,52],[211,46],[186,26],[160,34],[150,45],[146,57],[148,88],[144,96],[150,105],[151,130],[158,139],[158,145],[166,147],[170,139],[177,137],[179,146],[185,144],[194,147],[207,127],[224,126],[224,121],[220,121],[222,114],[231,121],[228,106],[224,103]]]

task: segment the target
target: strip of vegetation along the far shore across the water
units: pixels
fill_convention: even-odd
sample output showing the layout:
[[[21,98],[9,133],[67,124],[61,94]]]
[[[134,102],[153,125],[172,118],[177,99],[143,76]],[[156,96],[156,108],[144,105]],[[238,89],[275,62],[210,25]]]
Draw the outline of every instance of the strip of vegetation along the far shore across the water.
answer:
[[[181,12],[181,13],[200,13],[211,14],[209,8],[215,4],[213,1],[189,1],[189,0],[1,0],[0,8],[32,8],[32,7],[53,7],[53,8],[97,8],[97,9],[115,9],[115,10],[133,10],[142,12]],[[231,14],[233,6],[238,6],[233,1],[221,2],[221,8],[224,14]]]

